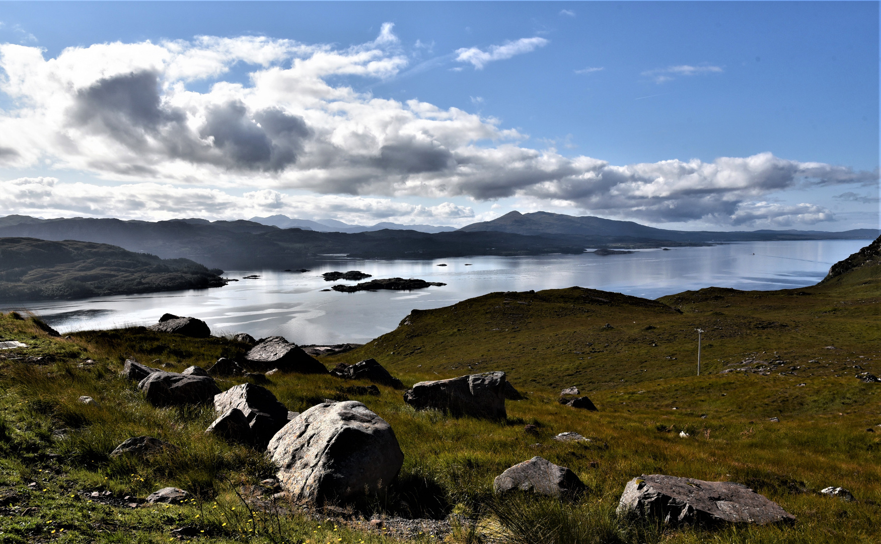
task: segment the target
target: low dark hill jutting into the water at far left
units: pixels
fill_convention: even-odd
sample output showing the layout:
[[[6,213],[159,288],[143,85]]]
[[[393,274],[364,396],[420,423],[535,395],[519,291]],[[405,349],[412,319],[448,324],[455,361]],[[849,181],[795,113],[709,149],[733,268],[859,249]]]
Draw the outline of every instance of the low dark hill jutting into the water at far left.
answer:
[[[105,243],[0,238],[0,300],[68,299],[222,287],[221,270]]]

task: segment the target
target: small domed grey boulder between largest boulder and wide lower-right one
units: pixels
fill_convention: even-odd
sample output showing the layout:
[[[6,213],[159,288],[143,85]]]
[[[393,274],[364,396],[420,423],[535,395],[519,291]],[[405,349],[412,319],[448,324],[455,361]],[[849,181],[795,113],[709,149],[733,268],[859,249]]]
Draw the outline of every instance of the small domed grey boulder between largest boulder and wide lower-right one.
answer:
[[[584,483],[574,472],[540,457],[517,463],[492,482],[492,490],[496,493],[520,489],[537,495],[574,496],[584,488]]]

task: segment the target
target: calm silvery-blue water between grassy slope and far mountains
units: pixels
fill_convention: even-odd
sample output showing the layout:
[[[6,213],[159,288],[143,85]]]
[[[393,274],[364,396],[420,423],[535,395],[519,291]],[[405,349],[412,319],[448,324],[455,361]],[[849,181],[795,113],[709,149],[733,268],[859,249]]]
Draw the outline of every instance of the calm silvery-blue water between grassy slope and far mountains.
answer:
[[[708,248],[641,250],[631,255],[464,257],[433,261],[330,257],[312,272],[227,271],[226,287],[172,293],[17,304],[59,332],[154,324],[165,312],[203,319],[218,335],[281,335],[298,344],[366,342],[393,330],[411,309],[448,306],[492,291],[592,287],[657,298],[701,287],[781,289],[823,279],[829,266],[868,240],[742,242]],[[438,266],[439,264],[447,266]],[[466,266],[470,264],[470,266]],[[445,287],[412,292],[322,292],[322,272],[360,270],[375,278],[420,278]],[[251,274],[259,279],[242,279]]]

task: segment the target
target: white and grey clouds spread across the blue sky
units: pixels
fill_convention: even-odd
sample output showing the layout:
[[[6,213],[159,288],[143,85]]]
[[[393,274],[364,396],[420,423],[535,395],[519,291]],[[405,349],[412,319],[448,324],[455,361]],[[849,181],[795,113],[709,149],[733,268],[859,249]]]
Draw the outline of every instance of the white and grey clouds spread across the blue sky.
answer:
[[[549,43],[523,38],[459,48],[449,58],[481,70]],[[607,217],[747,227],[833,220],[821,205],[766,202],[774,192],[877,183],[877,172],[772,153],[626,166],[566,157],[530,147],[527,135],[492,117],[377,98],[352,86],[352,78],[394,78],[410,63],[388,23],[375,41],[350,48],[201,36],[66,48],[47,59],[41,48],[3,44],[0,91],[13,105],[0,111],[0,167],[67,169],[122,184],[48,177],[2,183],[16,210],[43,215],[336,211],[353,222],[464,224],[489,218],[469,206],[406,201],[514,197]],[[243,69],[246,82],[234,77]],[[717,71],[682,65],[645,75]]]

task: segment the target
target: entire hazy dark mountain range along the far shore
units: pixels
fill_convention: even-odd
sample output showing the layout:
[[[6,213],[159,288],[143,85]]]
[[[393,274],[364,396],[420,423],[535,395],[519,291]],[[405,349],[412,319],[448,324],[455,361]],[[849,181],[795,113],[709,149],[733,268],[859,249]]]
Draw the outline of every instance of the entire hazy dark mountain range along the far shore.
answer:
[[[197,218],[155,222],[81,217],[43,220],[26,215],[0,218],[0,238],[24,236],[50,241],[109,243],[161,258],[188,258],[226,270],[311,267],[316,260],[339,256],[443,258],[578,254],[586,248],[637,249],[763,240],[870,240],[878,235],[877,229],[838,233],[689,232],[548,212],[510,212],[496,220],[437,233],[400,228],[357,233],[320,232],[247,220]]]

